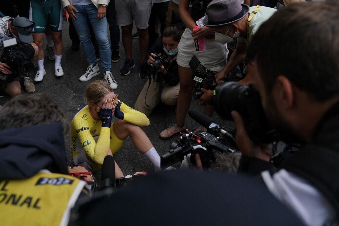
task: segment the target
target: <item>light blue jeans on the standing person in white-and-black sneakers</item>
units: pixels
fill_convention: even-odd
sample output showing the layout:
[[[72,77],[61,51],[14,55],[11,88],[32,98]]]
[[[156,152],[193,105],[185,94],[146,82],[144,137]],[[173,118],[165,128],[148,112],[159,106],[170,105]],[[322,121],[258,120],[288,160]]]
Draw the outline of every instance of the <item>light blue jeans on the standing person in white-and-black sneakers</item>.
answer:
[[[97,20],[98,9],[94,4],[89,5],[73,5],[78,12],[74,12],[77,19],[73,21],[74,27],[77,30],[79,40],[85,52],[88,64],[96,64],[94,46],[91,42],[91,34],[89,32],[88,20],[93,27],[95,39],[99,46],[101,64],[103,71],[111,70],[111,48],[107,36],[107,19],[104,17]]]

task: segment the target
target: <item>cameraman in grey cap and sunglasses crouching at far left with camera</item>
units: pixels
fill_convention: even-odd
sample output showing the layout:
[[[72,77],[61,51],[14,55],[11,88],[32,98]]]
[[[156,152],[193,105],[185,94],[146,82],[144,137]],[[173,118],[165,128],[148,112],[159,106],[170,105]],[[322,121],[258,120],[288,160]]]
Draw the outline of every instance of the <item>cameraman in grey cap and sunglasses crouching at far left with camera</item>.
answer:
[[[38,57],[38,46],[31,34],[33,26],[25,17],[0,18],[0,86],[11,97],[21,94],[19,76],[24,80],[26,93],[35,91],[29,78],[35,73],[33,63]]]

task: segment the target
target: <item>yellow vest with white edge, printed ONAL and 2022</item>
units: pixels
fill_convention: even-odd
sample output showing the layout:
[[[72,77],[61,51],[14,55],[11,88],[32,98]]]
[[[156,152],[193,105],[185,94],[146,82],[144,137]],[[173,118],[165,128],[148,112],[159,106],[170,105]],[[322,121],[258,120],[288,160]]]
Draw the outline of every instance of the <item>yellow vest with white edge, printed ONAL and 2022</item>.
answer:
[[[41,170],[22,180],[0,181],[0,225],[67,225],[86,183]]]

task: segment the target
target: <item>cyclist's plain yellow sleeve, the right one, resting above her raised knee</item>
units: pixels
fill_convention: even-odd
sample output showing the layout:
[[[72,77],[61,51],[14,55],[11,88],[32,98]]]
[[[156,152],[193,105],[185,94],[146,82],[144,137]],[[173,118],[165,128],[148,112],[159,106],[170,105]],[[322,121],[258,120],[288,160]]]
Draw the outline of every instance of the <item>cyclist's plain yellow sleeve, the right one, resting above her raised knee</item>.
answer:
[[[147,116],[140,111],[137,111],[131,107],[128,107],[126,104],[121,103],[120,110],[124,113],[124,121],[129,122],[137,126],[149,126],[149,119]]]

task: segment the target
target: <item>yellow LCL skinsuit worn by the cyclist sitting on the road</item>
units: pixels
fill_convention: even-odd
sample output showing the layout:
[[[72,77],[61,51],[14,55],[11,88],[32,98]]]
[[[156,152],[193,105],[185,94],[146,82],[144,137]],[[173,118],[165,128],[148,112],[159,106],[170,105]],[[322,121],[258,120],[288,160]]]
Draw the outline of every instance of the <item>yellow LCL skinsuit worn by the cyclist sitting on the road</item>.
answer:
[[[119,100],[120,101],[120,100]],[[149,119],[145,114],[121,103],[120,110],[124,113],[124,121],[137,126],[148,126]],[[72,120],[71,144],[74,164],[90,163],[96,171],[102,165],[109,148],[117,152],[123,144],[111,128],[101,127],[101,121],[92,118],[89,106],[82,108]]]

